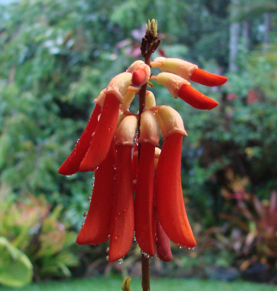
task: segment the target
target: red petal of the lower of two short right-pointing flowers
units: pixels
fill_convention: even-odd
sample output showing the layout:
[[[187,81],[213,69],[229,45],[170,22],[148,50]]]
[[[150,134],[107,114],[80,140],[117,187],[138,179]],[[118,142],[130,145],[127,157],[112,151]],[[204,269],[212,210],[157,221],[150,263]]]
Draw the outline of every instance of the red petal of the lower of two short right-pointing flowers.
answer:
[[[181,86],[178,96],[186,103],[190,104],[196,109],[213,109],[218,105],[218,102],[205,96],[192,86],[184,84]]]

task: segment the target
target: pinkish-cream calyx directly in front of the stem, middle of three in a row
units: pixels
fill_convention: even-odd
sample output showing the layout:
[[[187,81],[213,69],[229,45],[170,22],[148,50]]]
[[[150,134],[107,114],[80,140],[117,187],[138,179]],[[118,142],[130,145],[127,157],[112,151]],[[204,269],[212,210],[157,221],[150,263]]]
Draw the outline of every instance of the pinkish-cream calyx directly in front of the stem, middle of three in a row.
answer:
[[[155,119],[155,114],[150,110],[145,110],[140,118],[140,138],[141,143],[159,144],[159,129]]]

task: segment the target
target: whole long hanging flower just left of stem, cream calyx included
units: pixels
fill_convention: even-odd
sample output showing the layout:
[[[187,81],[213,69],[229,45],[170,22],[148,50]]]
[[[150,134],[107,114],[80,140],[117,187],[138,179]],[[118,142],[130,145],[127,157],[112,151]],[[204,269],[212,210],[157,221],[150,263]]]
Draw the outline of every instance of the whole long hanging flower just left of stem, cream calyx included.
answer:
[[[134,236],[134,195],[132,177],[132,147],[137,129],[137,118],[126,116],[115,134],[117,162],[112,210],[109,260],[121,259]]]

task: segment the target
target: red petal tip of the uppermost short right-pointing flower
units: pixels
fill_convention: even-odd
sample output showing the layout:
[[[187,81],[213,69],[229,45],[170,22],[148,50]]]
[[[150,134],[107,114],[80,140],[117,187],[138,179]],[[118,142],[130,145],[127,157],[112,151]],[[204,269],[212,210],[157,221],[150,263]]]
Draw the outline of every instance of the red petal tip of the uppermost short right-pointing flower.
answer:
[[[197,68],[193,71],[190,80],[205,86],[212,87],[223,85],[228,80],[228,78]]]

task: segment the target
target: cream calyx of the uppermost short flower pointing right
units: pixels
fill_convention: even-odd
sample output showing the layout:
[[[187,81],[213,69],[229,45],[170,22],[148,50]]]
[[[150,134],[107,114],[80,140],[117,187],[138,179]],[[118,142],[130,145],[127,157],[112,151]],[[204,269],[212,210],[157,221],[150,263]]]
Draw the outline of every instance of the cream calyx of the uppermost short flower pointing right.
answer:
[[[181,60],[179,58],[164,57],[155,58],[154,62],[151,63],[151,66],[158,67],[163,72],[177,74],[186,80],[190,80],[191,74],[195,69],[198,68],[197,65]]]

